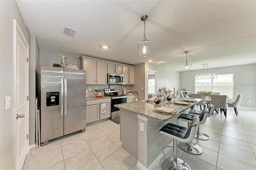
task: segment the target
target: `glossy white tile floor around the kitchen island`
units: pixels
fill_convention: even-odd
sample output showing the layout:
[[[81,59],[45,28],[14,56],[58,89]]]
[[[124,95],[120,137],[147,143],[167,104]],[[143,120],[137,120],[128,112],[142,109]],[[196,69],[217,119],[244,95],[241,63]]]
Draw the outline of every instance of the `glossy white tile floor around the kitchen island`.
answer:
[[[193,140],[203,153],[192,155],[178,149],[178,156],[192,170],[256,170],[256,111],[238,112],[236,116],[228,108],[227,118],[214,112],[200,128],[210,140]],[[138,170],[136,159],[122,148],[119,132],[120,125],[112,121],[91,125],[86,132],[30,150],[22,169]],[[158,163],[154,170],[160,169]]]

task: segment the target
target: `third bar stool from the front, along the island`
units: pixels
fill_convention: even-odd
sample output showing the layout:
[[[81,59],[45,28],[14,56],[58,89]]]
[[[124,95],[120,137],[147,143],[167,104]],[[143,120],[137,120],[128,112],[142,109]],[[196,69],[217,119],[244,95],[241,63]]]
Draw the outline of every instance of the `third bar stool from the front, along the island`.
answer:
[[[212,104],[210,104],[208,106],[208,110],[209,110],[209,112],[208,112],[207,117],[210,117],[214,111],[214,106]],[[188,114],[196,115],[196,116],[200,116],[201,113],[202,113],[202,111],[196,111],[196,110],[190,110],[188,112]],[[210,139],[210,137],[207,134],[199,131],[199,126],[198,126],[198,130],[196,131],[195,138],[200,139],[200,140],[209,140]]]

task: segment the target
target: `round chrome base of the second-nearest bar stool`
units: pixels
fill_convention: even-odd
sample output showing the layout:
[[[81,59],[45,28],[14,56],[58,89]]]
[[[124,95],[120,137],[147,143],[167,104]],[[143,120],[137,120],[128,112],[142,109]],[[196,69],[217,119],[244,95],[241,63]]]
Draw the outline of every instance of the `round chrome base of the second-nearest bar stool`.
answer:
[[[189,154],[200,155],[203,153],[203,149],[194,142],[179,142],[178,146]]]

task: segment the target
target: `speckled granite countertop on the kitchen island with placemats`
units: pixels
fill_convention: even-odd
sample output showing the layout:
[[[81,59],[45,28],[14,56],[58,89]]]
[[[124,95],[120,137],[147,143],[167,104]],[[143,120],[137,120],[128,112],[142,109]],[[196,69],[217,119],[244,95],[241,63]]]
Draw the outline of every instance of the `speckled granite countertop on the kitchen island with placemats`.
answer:
[[[181,99],[185,99],[185,98],[176,97],[175,101],[181,101]],[[202,99],[196,99],[196,100],[201,101]],[[154,107],[170,107],[178,110],[178,112],[181,113],[186,109],[194,106],[197,103],[197,102],[191,102],[190,105],[176,105],[172,102],[173,101],[157,105],[153,103],[146,103],[143,101],[136,101],[131,103],[122,103],[114,106],[118,107],[119,109],[125,109],[126,111],[130,111],[132,113],[136,113],[138,115],[148,117],[150,119],[155,119],[156,121],[165,122],[172,119],[175,115],[162,115],[162,114],[155,113],[153,112]]]

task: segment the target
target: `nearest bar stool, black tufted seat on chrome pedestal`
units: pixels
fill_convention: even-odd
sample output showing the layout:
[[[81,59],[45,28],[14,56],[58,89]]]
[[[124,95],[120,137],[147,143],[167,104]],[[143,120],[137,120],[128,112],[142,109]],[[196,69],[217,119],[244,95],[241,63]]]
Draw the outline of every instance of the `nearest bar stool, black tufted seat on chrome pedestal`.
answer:
[[[166,136],[170,136],[173,138],[173,155],[167,156],[164,153],[164,149],[167,147],[172,146],[165,146],[163,148],[163,154],[167,157],[163,162],[161,163],[161,168],[164,170],[191,170],[188,164],[184,162],[184,160],[178,158],[178,147],[177,147],[177,140],[183,141],[183,142],[190,142],[194,138],[194,134],[196,134],[196,129],[199,125],[200,119],[196,117],[190,124],[190,126],[182,127],[180,125],[175,125],[172,123],[166,124],[164,127],[162,127],[159,132],[162,134],[165,134]]]

